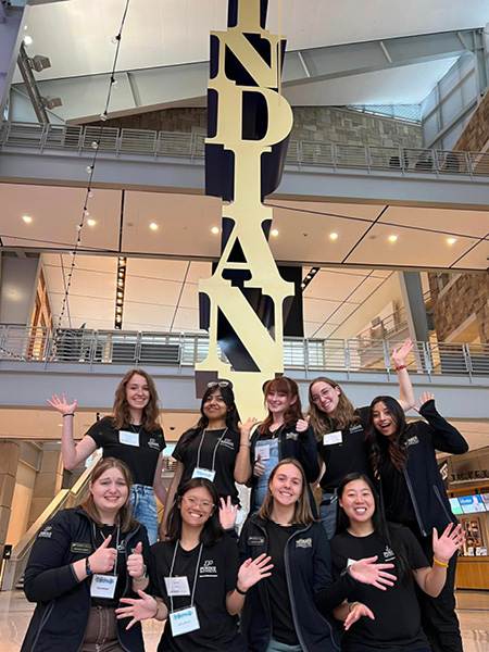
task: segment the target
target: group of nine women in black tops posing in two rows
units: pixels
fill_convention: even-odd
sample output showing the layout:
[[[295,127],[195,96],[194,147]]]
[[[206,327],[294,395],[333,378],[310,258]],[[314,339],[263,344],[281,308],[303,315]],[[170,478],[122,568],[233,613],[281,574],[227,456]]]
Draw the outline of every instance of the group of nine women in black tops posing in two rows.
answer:
[[[264,388],[267,417],[241,424],[230,384],[209,384],[199,423],[173,453],[167,496],[158,396],[145,372],[126,374],[113,415],[76,447],[76,401],[53,397],[65,466],[99,447],[104,460],[88,499],[38,534],[25,576],[38,606],[23,652],[143,650],[147,618],[167,620],[161,651],[462,651],[453,580],[463,536],[435,449],[467,444],[428,394],[426,422],[406,425],[410,348],[393,354],[399,401],[378,397],[359,410],[322,377],[303,418],[297,384],[280,377]],[[236,482],[251,487],[238,546]],[[166,509],[149,548],[154,494]]]

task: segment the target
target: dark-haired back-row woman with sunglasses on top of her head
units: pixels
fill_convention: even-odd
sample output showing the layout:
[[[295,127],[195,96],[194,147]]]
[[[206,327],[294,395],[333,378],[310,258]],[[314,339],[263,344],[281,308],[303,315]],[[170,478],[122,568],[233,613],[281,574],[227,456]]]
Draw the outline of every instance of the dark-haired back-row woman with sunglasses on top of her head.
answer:
[[[191,478],[214,482],[221,498],[229,496],[239,504],[236,482],[244,484],[251,475],[250,430],[256,423],[239,422],[235,394],[228,380],[209,383],[200,405],[201,417],[184,432],[173,452],[177,460],[168,488],[167,503],[173,504],[178,488]],[[163,514],[162,538],[166,535],[167,514]]]

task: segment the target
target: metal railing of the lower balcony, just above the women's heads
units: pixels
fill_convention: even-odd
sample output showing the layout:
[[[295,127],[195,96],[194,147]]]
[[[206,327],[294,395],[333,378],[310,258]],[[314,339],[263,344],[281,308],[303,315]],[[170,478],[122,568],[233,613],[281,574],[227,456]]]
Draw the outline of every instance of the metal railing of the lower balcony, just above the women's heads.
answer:
[[[285,338],[284,366],[312,373],[392,372],[390,354],[397,339]],[[0,327],[0,362],[77,363],[93,365],[192,367],[209,350],[205,335]],[[223,352],[221,359],[226,361]],[[489,376],[489,344],[414,342],[406,361],[412,373]]]

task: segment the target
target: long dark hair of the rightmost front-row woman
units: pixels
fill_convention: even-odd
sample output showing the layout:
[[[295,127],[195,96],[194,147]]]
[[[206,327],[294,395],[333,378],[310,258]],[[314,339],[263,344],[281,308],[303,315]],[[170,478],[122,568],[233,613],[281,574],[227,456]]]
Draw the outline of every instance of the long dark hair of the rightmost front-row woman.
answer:
[[[374,497],[374,514],[372,516],[372,525],[374,531],[381,540],[383,543],[388,546],[396,555],[396,572],[398,579],[401,579],[403,584],[406,584],[412,577],[413,569],[408,560],[408,551],[405,549],[404,539],[400,535],[401,525],[396,523],[389,523],[385,519],[384,513],[380,506],[378,493],[374,487],[374,482],[371,478],[362,473],[349,473],[341,480],[338,487],[338,506],[337,506],[337,522],[336,522],[336,534],[339,535],[344,532],[350,527],[350,518],[347,516],[343,507],[340,505],[340,500],[344,493],[347,485],[355,480],[363,480],[368,489],[372,491]],[[384,561],[384,560],[380,560]]]

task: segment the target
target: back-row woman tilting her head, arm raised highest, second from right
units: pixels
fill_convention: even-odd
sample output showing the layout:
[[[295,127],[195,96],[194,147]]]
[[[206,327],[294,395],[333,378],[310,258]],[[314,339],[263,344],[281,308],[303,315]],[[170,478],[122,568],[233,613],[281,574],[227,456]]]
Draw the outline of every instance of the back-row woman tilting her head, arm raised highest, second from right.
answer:
[[[411,410],[415,403],[413,387],[405,360],[413,344],[410,339],[392,353],[399,379],[399,403]],[[330,539],[335,534],[337,489],[349,473],[372,475],[365,447],[365,427],[368,406],[355,409],[335,380],[321,376],[309,386],[310,425],[317,441],[317,452],[323,465],[321,474],[322,500],[319,516]]]

